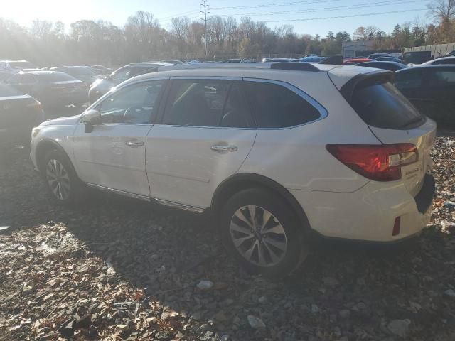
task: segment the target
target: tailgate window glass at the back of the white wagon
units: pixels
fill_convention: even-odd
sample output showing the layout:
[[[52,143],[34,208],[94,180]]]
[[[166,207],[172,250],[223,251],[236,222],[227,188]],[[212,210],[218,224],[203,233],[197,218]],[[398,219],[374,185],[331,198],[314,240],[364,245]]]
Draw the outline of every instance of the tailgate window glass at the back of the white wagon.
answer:
[[[366,124],[378,128],[409,129],[424,121],[424,117],[390,82],[356,88],[352,107]]]

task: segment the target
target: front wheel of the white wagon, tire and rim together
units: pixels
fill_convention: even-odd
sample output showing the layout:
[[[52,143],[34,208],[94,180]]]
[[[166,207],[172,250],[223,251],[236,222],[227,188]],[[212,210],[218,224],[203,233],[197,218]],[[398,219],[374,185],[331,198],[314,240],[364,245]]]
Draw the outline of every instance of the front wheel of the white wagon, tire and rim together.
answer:
[[[45,187],[55,202],[69,205],[80,199],[82,183],[65,153],[57,149],[48,151],[40,169]]]

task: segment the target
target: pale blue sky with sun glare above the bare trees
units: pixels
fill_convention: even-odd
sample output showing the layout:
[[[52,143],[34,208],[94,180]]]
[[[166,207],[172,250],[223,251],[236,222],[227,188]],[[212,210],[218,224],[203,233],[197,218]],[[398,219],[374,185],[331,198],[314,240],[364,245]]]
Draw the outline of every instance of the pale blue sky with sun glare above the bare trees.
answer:
[[[9,0],[1,4],[0,17],[23,26],[30,26],[33,19],[63,21],[69,29],[70,23],[81,19],[102,19],[123,26],[136,11],[149,11],[163,28],[168,28],[173,16],[202,18],[200,3],[200,0]],[[412,22],[417,17],[430,23],[428,3],[429,0],[207,0],[211,16],[232,15],[239,20],[241,16],[250,16],[254,21],[266,21],[271,28],[291,24],[296,33],[321,37],[328,31],[347,31],[352,35],[355,28],[371,25],[390,33],[396,23]]]

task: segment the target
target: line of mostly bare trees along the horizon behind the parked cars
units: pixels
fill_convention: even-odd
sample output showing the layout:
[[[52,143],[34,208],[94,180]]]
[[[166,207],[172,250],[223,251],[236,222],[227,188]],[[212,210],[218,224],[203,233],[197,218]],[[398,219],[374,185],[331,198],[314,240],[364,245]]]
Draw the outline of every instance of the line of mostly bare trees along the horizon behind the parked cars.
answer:
[[[207,25],[207,60],[262,56],[296,57],[310,53],[341,53],[341,44],[373,40],[375,50],[455,42],[455,0],[435,0],[429,5],[434,23],[416,19],[397,24],[391,33],[376,26],[359,27],[326,37],[297,34],[291,25],[269,28],[251,18],[213,16]],[[109,21],[80,20],[65,30],[61,22],[35,20],[25,28],[0,18],[0,59],[27,59],[37,65],[124,65],[147,60],[205,58],[205,32],[200,21],[172,18],[163,28],[152,13],[138,11],[124,26]]]

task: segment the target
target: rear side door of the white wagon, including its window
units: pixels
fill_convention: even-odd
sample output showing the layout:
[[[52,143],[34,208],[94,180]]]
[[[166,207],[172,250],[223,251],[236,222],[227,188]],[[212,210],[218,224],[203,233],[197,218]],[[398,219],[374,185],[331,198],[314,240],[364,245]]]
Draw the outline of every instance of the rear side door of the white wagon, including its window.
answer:
[[[238,171],[256,133],[240,80],[173,78],[161,122],[147,136],[151,196],[210,207],[215,188]]]

